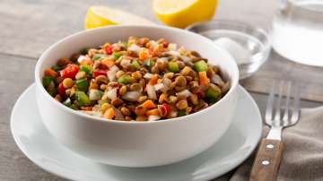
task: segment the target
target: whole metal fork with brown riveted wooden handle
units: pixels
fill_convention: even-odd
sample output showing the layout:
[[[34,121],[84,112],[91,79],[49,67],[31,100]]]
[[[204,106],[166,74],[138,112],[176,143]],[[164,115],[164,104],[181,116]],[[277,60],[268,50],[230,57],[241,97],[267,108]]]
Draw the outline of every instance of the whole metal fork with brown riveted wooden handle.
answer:
[[[283,90],[287,86],[285,101]],[[293,90],[293,99],[291,92]],[[276,96],[277,95],[277,96]],[[293,100],[293,101],[292,101]],[[300,119],[300,91],[292,82],[273,83],[266,107],[266,125],[271,127],[269,134],[260,142],[256,159],[251,169],[250,181],[276,180],[283,155],[282,130],[295,125]]]

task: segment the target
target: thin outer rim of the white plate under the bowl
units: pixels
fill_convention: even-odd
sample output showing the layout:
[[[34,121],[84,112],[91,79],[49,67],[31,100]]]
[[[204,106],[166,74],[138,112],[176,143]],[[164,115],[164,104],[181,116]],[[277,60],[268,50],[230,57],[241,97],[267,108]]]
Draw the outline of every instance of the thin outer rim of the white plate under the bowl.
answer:
[[[48,173],[53,174],[55,176],[70,179],[70,180],[75,180],[75,177],[70,177],[70,175],[68,175],[68,174],[63,175],[61,173],[57,173],[57,172],[53,171],[51,168],[48,168],[47,165],[41,164],[37,159],[34,159],[33,157],[31,157],[31,155],[28,154],[28,151],[26,151],[26,149],[24,149],[22,142],[20,142],[19,138],[17,138],[17,136],[15,134],[15,131],[13,129],[13,115],[15,114],[16,107],[17,107],[17,105],[19,105],[19,103],[22,101],[22,99],[25,97],[25,95],[31,89],[35,88],[35,86],[36,86],[35,82],[31,83],[31,85],[29,85],[28,88],[23,90],[22,94],[19,96],[19,98],[14,103],[14,106],[13,106],[13,109],[12,109],[12,112],[10,115],[10,130],[11,130],[11,134],[13,135],[13,140],[17,144],[19,150],[22,151],[24,156],[26,156],[28,159],[30,159],[31,162],[33,162],[39,168],[42,168],[45,171],[47,171]],[[201,181],[202,180],[209,180],[209,179],[214,179],[216,177],[221,177],[221,176],[225,175],[226,173],[228,173],[232,169],[239,167],[240,164],[243,161],[245,161],[246,159],[248,159],[249,156],[252,154],[252,152],[255,151],[255,149],[257,148],[258,142],[260,141],[261,134],[262,134],[262,127],[263,127],[262,116],[261,116],[260,110],[258,108],[258,105],[257,105],[255,99],[253,99],[252,96],[249,94],[249,92],[247,90],[245,90],[240,84],[238,86],[238,91],[242,91],[242,93],[250,100],[253,107],[255,107],[257,109],[257,116],[259,117],[258,124],[259,124],[260,129],[259,129],[258,133],[255,134],[257,136],[257,138],[254,139],[256,143],[251,145],[251,148],[249,149],[249,151],[247,152],[245,157],[241,157],[241,159],[236,159],[236,161],[233,164],[231,164],[231,167],[225,169],[222,173],[211,172],[211,174],[208,174],[205,177],[200,177],[199,179],[196,179],[196,180],[201,180]],[[216,142],[215,142],[215,144],[216,144]],[[91,159],[89,159],[89,160],[91,160]],[[214,174],[212,174],[212,173],[214,173]]]

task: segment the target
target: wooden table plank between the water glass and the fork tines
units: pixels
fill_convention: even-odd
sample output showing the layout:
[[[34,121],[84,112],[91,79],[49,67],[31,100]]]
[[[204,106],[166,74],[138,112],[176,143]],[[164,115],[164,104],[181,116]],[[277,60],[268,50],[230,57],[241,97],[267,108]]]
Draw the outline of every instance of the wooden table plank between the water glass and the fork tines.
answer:
[[[323,102],[323,69],[300,65],[279,56],[275,52],[258,73],[241,82],[250,91],[267,93],[273,80],[292,81],[301,89],[301,99]]]

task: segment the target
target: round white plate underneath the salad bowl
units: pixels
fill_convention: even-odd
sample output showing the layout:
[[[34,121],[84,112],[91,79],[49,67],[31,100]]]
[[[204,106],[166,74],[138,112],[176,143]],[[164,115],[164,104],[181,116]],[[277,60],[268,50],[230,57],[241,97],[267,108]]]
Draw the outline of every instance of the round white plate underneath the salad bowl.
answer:
[[[11,129],[15,142],[31,161],[60,177],[111,181],[208,180],[240,165],[256,148],[260,138],[262,120],[258,106],[242,87],[239,88],[238,102],[231,127],[213,147],[192,159],[155,168],[113,167],[93,162],[66,149],[42,124],[35,100],[34,84],[15,103]]]

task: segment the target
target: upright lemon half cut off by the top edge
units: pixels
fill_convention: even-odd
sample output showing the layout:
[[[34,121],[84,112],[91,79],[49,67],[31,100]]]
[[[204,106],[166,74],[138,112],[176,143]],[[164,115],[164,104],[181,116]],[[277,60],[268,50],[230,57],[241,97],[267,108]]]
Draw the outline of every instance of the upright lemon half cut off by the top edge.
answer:
[[[153,12],[166,25],[185,28],[195,22],[210,21],[218,0],[153,0]]]

